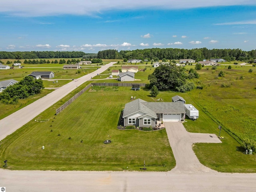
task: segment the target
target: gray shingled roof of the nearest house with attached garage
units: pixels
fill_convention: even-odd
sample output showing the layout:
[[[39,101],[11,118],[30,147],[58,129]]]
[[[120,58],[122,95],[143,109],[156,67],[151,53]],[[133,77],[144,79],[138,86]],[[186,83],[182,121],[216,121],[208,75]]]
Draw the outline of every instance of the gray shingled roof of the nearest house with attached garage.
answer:
[[[146,102],[136,99],[125,104],[123,118],[139,111],[154,118],[157,118],[156,113],[185,113],[181,102]]]

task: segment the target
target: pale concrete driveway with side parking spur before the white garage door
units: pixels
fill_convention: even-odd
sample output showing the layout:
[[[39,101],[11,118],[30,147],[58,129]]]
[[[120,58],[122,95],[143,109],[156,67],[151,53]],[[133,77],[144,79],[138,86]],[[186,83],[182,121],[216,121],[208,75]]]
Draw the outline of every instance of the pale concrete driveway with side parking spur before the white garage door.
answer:
[[[192,150],[193,143],[221,143],[215,134],[187,132],[181,122],[164,122],[164,126],[176,160],[171,172],[216,172],[202,165]]]

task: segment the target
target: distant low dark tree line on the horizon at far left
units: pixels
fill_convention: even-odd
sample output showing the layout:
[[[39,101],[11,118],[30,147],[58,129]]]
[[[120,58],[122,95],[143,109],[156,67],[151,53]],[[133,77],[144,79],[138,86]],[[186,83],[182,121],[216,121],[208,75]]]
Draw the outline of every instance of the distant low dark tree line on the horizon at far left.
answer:
[[[30,51],[0,52],[0,59],[40,59],[40,58],[79,58],[86,55],[82,51]]]

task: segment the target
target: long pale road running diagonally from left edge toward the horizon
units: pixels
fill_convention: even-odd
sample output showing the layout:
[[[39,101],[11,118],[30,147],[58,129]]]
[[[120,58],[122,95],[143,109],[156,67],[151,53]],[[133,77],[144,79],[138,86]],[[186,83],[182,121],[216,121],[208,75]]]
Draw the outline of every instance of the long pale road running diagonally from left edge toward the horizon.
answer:
[[[22,127],[24,124],[38,116],[41,112],[52,106],[54,103],[58,102],[61,98],[75,90],[78,86],[90,80],[91,77],[104,72],[108,69],[108,67],[115,63],[116,62],[110,62],[109,64],[100,67],[98,70],[88,75],[75,79],[74,81],[69,82],[68,84],[49,93],[43,98],[36,100],[32,104],[0,120],[0,140],[4,139],[9,134],[12,134],[18,128]]]

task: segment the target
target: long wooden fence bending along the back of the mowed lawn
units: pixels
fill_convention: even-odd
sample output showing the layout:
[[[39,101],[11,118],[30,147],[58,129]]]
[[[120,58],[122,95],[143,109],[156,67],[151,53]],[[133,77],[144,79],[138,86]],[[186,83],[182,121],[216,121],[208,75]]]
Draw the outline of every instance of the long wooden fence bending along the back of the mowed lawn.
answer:
[[[71,104],[76,98],[78,98],[80,95],[82,95],[88,88],[91,86],[119,86],[119,87],[129,87],[132,86],[132,84],[135,83],[91,83],[85,88],[83,88],[80,92],[75,94],[70,100],[68,100],[66,103],[64,103],[62,106],[60,106],[58,109],[56,109],[56,115],[58,115],[60,112],[62,112],[69,104]],[[139,84],[141,87],[144,87],[146,83],[136,83]]]

